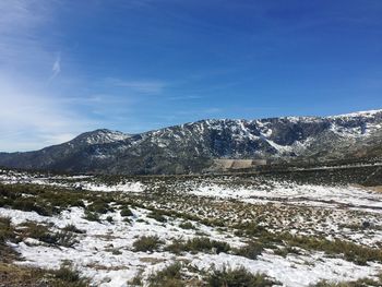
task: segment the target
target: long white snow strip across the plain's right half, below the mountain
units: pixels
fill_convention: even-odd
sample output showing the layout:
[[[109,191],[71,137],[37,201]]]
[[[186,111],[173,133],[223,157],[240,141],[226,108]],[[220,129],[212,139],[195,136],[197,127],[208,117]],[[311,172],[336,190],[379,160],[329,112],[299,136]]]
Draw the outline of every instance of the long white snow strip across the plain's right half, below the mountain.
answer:
[[[249,203],[287,202],[312,206],[349,205],[382,212],[382,194],[354,186],[297,184],[268,181],[256,187],[227,187],[224,184],[195,184],[190,193],[200,196],[235,199]]]

